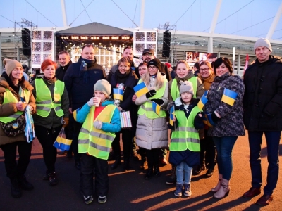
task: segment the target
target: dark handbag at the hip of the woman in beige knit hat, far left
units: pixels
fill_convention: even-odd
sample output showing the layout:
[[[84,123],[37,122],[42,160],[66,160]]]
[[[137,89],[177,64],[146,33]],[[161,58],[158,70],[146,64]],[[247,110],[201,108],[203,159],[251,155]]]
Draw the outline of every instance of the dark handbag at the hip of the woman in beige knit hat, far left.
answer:
[[[25,124],[25,113],[23,113],[16,120],[8,123],[1,122],[1,127],[6,136],[15,137],[25,132]]]

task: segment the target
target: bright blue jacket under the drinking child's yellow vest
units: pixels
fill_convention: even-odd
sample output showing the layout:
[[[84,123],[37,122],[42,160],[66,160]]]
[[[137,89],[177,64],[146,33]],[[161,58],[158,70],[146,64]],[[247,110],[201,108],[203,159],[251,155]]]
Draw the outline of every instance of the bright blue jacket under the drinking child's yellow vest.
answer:
[[[113,101],[104,101],[102,102],[102,106],[107,106],[107,105],[113,105]],[[90,113],[90,106],[86,103],[82,108],[78,108],[76,110],[76,121],[83,123],[88,115]],[[104,132],[111,132],[111,133],[116,133],[121,130],[121,117],[119,115],[119,110],[116,108],[114,110],[114,115],[111,118],[111,123],[102,123],[102,130]]]

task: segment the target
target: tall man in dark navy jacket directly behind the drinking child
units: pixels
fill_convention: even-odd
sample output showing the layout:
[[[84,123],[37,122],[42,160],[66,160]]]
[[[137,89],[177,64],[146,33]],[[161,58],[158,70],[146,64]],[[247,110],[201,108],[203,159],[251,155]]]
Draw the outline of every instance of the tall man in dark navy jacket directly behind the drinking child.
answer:
[[[63,82],[65,82],[70,98],[70,113],[82,107],[93,97],[94,84],[98,80],[105,79],[106,74],[101,65],[97,64],[94,46],[87,44],[82,47],[82,53],[77,63],[69,66]],[[70,119],[73,122],[73,154],[75,157],[75,167],[80,170],[80,157],[78,153],[78,134],[82,124]]]

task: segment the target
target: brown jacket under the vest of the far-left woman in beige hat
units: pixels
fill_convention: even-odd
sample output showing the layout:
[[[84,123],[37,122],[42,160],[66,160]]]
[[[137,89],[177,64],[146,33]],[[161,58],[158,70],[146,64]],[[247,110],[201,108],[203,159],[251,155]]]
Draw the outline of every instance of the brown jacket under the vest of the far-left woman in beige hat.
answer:
[[[24,77],[22,80],[24,80]],[[32,94],[33,87],[30,85],[29,82],[25,80],[23,82],[20,82],[20,87],[22,87],[23,90],[28,89],[30,91],[30,101],[28,102],[28,104],[30,104],[30,106],[32,106],[33,108],[32,113],[35,113],[36,105],[35,105],[35,98]],[[2,77],[0,78],[0,116],[1,117],[12,115],[17,111],[16,103],[6,103],[2,105],[2,103],[4,102],[4,93],[6,92],[6,89],[10,90],[13,93],[13,95],[16,96],[16,98],[18,98],[18,101],[20,101],[20,97],[18,96],[18,93],[16,93],[16,91],[14,91],[10,87],[5,77],[2,75]],[[26,141],[25,134],[20,134],[16,137],[8,137],[4,133],[2,127],[0,127],[0,146],[7,143],[13,143],[16,141]]]

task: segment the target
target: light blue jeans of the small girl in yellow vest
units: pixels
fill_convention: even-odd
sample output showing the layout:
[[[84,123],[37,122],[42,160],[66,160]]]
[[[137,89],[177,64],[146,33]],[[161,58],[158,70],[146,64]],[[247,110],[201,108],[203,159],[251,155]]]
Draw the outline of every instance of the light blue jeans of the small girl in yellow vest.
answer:
[[[190,184],[193,168],[187,165],[186,162],[181,162],[176,166],[176,183],[177,184]],[[184,177],[184,178],[183,178]]]

